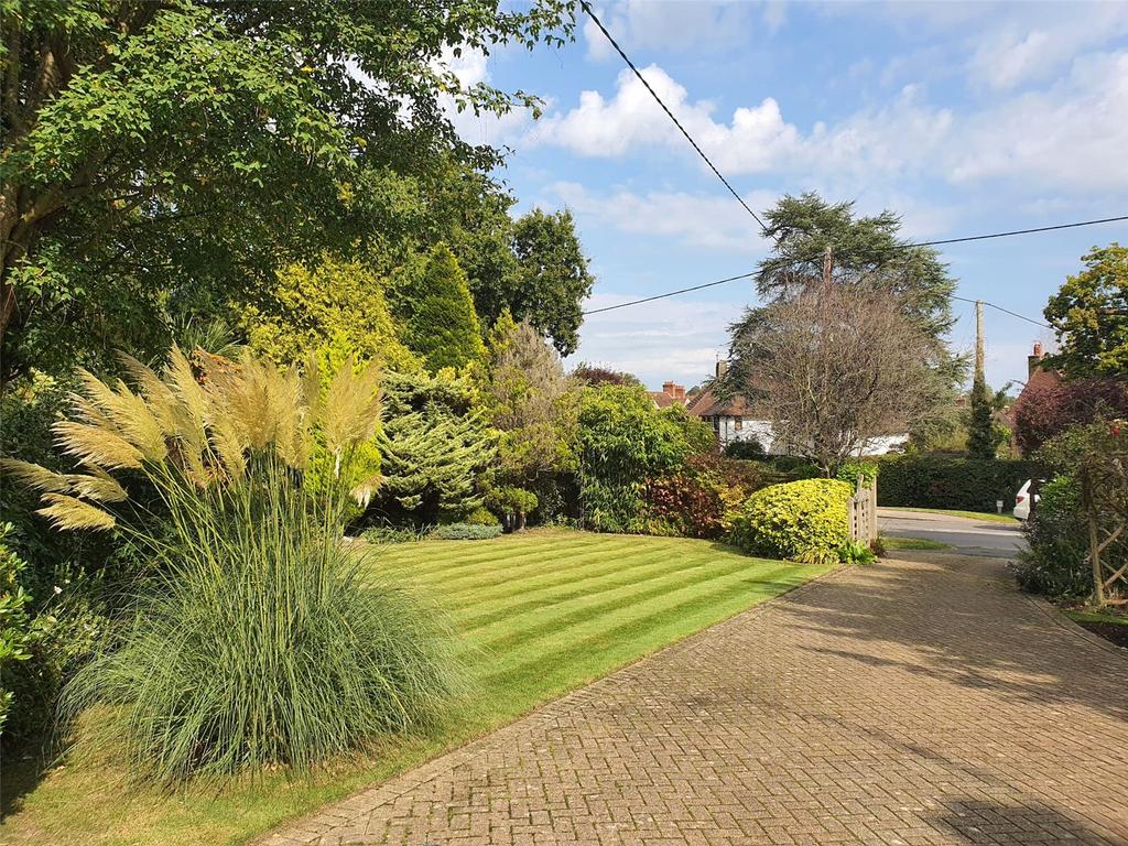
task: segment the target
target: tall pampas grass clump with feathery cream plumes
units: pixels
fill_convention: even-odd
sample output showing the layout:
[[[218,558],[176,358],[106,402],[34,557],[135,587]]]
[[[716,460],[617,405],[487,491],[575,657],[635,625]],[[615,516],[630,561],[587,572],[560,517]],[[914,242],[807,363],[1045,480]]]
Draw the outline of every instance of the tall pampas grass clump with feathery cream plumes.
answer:
[[[374,368],[323,379],[315,362],[209,360],[197,380],[175,349],[161,374],[127,364],[135,391],[83,373],[55,428],[85,474],[7,466],[60,528],[116,527],[153,563],[64,690],[68,723],[99,706],[76,751],[123,749],[136,774],[176,784],[303,769],[433,720],[455,681],[442,626],[365,578],[342,538],[350,494],[378,484],[349,473],[379,420]],[[318,456],[338,486],[302,484]]]

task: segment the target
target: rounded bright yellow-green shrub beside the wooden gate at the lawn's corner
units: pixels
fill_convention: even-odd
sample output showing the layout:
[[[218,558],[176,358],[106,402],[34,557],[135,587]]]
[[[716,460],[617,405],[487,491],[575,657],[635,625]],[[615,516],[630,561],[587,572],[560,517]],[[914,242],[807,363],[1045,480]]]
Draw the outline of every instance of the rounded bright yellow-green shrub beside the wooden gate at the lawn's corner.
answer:
[[[849,536],[851,486],[837,479],[803,479],[757,491],[732,529],[732,543],[758,555],[809,563],[837,559]]]

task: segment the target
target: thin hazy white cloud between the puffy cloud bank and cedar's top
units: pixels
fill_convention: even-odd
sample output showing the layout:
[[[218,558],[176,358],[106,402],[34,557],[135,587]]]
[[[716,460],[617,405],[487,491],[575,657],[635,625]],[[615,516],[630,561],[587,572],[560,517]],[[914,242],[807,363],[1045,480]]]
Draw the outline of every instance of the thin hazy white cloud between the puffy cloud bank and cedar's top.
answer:
[[[766,244],[756,222],[726,194],[688,194],[652,191],[634,194],[618,190],[591,192],[574,182],[548,186],[554,200],[578,215],[622,232],[677,239],[706,249],[760,255]],[[758,192],[744,197],[752,209],[766,209],[775,194]]]

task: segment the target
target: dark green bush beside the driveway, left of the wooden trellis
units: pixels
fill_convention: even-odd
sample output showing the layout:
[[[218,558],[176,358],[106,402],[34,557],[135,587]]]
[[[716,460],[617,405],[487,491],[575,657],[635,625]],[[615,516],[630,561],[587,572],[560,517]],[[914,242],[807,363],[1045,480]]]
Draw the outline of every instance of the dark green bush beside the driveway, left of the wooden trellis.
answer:
[[[1070,474],[1042,485],[1038,508],[1024,531],[1028,548],[1013,565],[1023,590],[1055,599],[1079,599],[1093,591],[1089,530],[1081,487]]]

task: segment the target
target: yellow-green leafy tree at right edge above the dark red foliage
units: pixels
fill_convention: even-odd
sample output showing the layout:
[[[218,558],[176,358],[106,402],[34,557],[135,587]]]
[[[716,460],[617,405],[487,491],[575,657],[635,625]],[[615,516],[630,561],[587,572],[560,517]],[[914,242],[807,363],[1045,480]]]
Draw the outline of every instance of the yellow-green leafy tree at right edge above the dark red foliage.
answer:
[[[1128,247],[1094,247],[1082,261],[1046,307],[1060,345],[1048,363],[1070,377],[1128,377]]]

